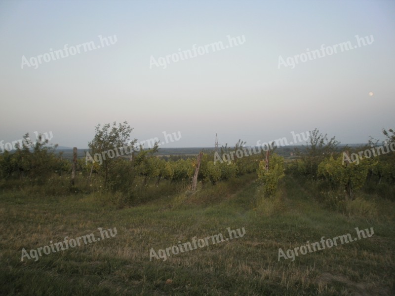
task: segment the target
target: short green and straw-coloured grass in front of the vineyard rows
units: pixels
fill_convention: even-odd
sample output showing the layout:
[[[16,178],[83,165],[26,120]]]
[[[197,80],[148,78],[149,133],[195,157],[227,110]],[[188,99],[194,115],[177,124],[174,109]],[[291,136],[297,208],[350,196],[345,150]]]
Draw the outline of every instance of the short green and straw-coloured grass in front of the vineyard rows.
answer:
[[[376,217],[346,215],[327,210],[288,176],[276,197],[262,199],[255,179],[250,174],[121,209],[104,193],[2,192],[0,295],[395,295],[394,202],[375,197]],[[99,227],[116,227],[117,235],[21,261],[22,248],[99,237]],[[227,238],[228,227],[244,227],[245,235],[150,261],[151,248],[194,236]],[[355,227],[373,227],[374,235],[278,261],[278,248],[286,252],[322,236],[354,238]]]

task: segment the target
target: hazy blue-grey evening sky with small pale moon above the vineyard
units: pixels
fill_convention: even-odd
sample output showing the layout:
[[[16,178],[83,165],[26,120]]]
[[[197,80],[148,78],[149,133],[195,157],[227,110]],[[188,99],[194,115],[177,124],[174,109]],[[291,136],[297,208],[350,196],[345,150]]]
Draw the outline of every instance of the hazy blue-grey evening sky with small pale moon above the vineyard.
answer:
[[[166,148],[395,128],[395,1],[2,0],[0,40],[3,143],[87,148],[123,121],[139,142],[179,132]]]

